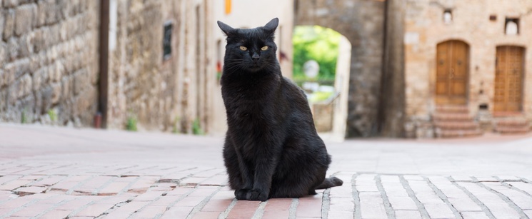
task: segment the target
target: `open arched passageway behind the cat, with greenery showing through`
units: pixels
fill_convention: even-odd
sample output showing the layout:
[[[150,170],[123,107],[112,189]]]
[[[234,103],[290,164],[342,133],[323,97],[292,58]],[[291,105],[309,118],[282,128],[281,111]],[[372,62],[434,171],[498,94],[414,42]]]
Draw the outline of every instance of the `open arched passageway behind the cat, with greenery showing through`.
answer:
[[[318,63],[317,76],[305,73]],[[316,130],[324,141],[343,141],[346,133],[351,42],[323,26],[295,26],[293,79],[306,91]]]

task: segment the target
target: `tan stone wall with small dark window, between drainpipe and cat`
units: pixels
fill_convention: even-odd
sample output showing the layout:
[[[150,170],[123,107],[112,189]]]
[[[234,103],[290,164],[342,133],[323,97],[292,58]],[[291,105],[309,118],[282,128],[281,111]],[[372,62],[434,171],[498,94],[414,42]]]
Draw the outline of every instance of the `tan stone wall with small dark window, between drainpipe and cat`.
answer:
[[[116,26],[110,24],[110,128],[137,121],[141,130],[206,131],[211,94],[206,69],[214,69],[206,45],[207,1],[116,0]],[[211,21],[212,22],[212,21]],[[163,57],[164,24],[172,24],[171,55]],[[113,30],[116,31],[113,31]],[[113,36],[114,35],[114,36]],[[112,40],[116,37],[116,46]],[[214,79],[213,79],[214,78]]]

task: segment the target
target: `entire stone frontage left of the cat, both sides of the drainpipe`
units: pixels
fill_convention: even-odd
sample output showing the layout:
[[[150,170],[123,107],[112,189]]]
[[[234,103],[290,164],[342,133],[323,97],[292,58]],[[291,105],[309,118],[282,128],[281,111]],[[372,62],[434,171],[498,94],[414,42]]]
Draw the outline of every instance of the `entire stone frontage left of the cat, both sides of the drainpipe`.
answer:
[[[134,120],[141,130],[209,131],[211,0],[0,6],[0,122],[91,127],[103,114],[108,128]],[[102,54],[109,57],[104,71]]]

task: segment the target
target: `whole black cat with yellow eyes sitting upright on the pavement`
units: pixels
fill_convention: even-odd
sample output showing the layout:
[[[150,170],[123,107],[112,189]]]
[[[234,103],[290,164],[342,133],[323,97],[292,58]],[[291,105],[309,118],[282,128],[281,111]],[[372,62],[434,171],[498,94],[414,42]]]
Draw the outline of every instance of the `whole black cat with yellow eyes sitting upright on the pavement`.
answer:
[[[281,75],[273,35],[278,19],[227,36],[221,91],[227,113],[224,162],[237,199],[315,195],[342,185],[325,178],[331,156],[316,133],[305,93]]]

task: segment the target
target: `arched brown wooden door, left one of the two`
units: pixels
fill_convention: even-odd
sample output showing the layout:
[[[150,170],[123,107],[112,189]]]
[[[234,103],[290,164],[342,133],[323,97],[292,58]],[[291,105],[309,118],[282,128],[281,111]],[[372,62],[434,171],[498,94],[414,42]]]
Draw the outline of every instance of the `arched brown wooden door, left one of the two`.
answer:
[[[436,103],[466,104],[469,46],[463,41],[438,44],[436,64]]]

